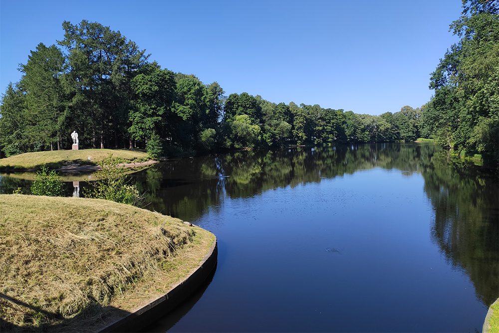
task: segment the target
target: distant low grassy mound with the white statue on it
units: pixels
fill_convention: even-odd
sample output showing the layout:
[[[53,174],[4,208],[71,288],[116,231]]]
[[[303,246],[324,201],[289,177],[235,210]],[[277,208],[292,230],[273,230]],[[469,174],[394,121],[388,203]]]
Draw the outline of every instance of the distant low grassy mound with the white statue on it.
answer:
[[[24,153],[2,158],[0,159],[0,168],[37,169],[41,166],[47,166],[50,169],[56,169],[71,163],[95,165],[105,159],[108,153],[113,154],[114,158],[123,158],[127,162],[150,160],[146,152],[138,149],[53,150]],[[88,157],[90,157],[90,160]]]

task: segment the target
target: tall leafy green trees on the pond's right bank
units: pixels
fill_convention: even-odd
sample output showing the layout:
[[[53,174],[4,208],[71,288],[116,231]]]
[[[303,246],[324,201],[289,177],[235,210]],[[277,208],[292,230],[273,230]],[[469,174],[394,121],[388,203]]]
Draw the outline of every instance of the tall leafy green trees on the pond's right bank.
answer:
[[[450,27],[461,40],[432,73],[435,95],[422,114],[424,132],[455,149],[499,154],[499,3],[463,0]]]

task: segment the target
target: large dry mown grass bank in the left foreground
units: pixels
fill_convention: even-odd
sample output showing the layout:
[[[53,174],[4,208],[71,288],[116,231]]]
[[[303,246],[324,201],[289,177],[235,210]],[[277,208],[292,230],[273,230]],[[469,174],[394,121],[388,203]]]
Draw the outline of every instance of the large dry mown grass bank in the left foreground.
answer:
[[[0,331],[96,331],[197,268],[215,236],[106,200],[0,195]]]

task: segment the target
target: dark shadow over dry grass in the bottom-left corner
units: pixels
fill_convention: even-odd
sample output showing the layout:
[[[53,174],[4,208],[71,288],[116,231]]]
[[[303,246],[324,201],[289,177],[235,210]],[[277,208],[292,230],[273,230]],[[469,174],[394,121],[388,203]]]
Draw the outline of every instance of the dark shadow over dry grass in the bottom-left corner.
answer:
[[[0,293],[0,332],[96,332],[130,313],[115,307],[91,304],[76,316],[64,318]],[[8,308],[22,311],[25,325],[19,326],[4,319]]]

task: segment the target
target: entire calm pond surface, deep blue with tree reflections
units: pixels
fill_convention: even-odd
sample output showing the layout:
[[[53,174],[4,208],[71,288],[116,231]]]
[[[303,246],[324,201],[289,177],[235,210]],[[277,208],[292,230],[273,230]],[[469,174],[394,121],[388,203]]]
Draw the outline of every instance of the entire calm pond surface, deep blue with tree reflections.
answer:
[[[497,168],[431,144],[214,154],[132,179],[145,208],[219,245],[211,279],[148,332],[481,332],[499,297]]]

